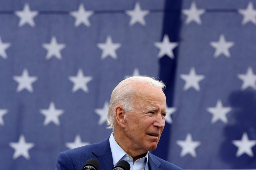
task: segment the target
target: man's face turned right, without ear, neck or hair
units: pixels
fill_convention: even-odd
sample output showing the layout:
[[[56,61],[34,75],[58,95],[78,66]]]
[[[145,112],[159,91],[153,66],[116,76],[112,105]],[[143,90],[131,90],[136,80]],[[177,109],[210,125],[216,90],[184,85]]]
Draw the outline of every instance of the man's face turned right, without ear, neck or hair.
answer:
[[[135,89],[134,109],[125,114],[124,134],[132,149],[145,153],[156,149],[164,129],[166,98],[159,88],[139,84]]]

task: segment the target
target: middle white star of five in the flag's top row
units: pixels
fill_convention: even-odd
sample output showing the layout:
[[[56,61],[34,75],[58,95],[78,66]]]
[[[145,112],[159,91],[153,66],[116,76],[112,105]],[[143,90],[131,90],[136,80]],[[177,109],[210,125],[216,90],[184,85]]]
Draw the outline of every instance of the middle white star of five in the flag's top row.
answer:
[[[140,3],[136,2],[134,9],[127,10],[125,13],[131,17],[130,26],[137,22],[143,26],[146,25],[144,17],[149,14],[149,10],[141,10]]]

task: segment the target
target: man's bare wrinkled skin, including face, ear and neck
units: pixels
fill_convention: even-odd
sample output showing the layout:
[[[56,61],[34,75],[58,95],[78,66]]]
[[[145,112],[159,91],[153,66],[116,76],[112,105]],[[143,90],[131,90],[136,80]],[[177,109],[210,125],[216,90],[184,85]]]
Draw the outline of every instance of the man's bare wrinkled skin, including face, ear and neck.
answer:
[[[165,125],[166,97],[160,88],[143,83],[135,84],[134,88],[133,111],[124,112],[122,107],[116,107],[118,125],[114,137],[122,149],[137,160],[157,147]]]

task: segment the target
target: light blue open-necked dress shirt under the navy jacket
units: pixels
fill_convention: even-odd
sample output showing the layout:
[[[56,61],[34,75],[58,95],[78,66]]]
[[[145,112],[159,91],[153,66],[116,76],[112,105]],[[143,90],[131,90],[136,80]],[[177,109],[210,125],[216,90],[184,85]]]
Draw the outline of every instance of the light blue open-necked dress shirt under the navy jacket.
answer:
[[[111,148],[112,158],[113,158],[113,164],[114,166],[117,164],[120,160],[127,161],[131,169],[130,170],[149,170],[148,168],[148,152],[146,156],[143,158],[140,158],[136,160],[133,164],[133,159],[131,156],[129,156],[125,151],[118,145],[116,142],[113,133],[111,133],[109,137],[109,144]]]

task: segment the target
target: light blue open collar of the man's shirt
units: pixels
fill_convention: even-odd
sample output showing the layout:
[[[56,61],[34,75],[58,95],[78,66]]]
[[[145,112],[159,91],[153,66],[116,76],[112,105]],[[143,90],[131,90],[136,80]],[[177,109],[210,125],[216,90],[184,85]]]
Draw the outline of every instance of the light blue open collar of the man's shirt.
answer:
[[[113,164],[114,166],[117,164],[117,162],[124,157],[125,155],[128,155],[127,153],[125,153],[125,151],[119,146],[119,144],[116,142],[115,138],[114,138],[114,133],[112,132],[110,137],[109,137],[109,144],[110,144],[110,149],[111,149],[111,153],[112,153],[112,158],[113,158]],[[148,164],[148,152],[145,156],[145,167]]]

